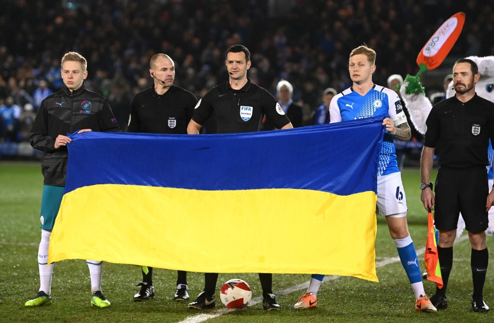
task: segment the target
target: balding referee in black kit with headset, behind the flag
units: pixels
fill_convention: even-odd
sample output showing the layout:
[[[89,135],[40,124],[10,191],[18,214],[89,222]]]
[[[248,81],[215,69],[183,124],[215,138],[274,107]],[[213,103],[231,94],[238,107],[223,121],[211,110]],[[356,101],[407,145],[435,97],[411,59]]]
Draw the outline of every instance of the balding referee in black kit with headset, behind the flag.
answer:
[[[154,80],[149,87],[135,94],[130,107],[128,132],[149,134],[187,134],[187,125],[197,99],[191,92],[174,86],[175,64],[166,54],[156,54],[149,62],[149,73]],[[143,282],[137,284],[140,291],[134,301],[147,300],[154,296],[153,268],[143,271]],[[187,272],[178,271],[177,291],[173,297],[177,301],[189,299]]]

